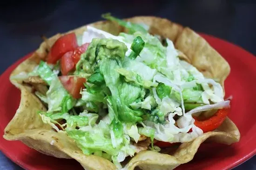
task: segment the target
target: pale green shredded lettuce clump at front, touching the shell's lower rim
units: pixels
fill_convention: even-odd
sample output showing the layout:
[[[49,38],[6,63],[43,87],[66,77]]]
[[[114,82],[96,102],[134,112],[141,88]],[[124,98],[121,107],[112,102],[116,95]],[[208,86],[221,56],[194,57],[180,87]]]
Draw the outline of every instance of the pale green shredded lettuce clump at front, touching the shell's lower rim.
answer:
[[[135,154],[135,149],[130,147],[129,136],[124,134],[115,137],[112,135],[112,127],[102,120],[94,126],[84,126],[79,130],[67,129],[66,132],[76,141],[84,154],[107,154],[104,157],[108,157],[119,168],[125,157]]]

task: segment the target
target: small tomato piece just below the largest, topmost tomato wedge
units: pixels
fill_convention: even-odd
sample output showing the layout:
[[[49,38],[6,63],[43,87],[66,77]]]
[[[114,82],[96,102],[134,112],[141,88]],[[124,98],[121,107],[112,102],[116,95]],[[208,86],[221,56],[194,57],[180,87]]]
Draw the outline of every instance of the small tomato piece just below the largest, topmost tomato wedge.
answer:
[[[69,71],[74,69],[74,62],[72,60],[73,52],[69,51],[61,57],[61,73],[66,76]]]

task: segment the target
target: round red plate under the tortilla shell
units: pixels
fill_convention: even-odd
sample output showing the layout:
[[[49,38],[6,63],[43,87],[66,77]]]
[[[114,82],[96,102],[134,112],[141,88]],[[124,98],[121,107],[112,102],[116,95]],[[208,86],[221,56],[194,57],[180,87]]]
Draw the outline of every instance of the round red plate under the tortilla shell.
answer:
[[[226,41],[201,35],[230,64],[231,74],[225,82],[225,90],[227,96],[233,95],[229,117],[240,130],[241,140],[233,145],[202,144],[193,161],[176,170],[227,170],[256,154],[256,58]],[[20,141],[2,138],[4,128],[13,118],[20,103],[20,90],[9,82],[9,76],[26,57],[9,67],[0,77],[0,149],[13,162],[27,170],[82,170],[81,165],[74,160],[43,155]]]

